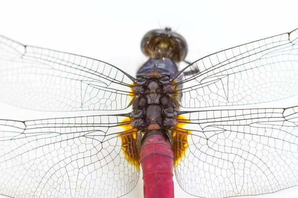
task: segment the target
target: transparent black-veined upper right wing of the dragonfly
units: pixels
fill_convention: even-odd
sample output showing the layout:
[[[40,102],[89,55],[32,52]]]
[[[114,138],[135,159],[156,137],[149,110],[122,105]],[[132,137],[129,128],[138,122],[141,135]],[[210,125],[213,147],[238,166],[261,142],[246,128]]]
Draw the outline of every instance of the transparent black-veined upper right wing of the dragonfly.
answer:
[[[206,56],[185,67],[174,81],[176,94],[182,94],[179,103],[186,108],[298,95],[298,29]]]

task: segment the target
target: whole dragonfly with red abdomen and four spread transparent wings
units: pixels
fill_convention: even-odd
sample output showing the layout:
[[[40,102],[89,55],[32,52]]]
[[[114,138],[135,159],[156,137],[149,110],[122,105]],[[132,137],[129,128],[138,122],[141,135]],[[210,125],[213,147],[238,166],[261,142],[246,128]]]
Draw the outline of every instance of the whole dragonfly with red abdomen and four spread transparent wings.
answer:
[[[189,63],[169,28],[141,42],[133,77],[109,63],[0,36],[0,100],[36,111],[98,112],[0,120],[0,195],[115,198],[143,170],[145,198],[274,193],[298,185],[298,29]]]

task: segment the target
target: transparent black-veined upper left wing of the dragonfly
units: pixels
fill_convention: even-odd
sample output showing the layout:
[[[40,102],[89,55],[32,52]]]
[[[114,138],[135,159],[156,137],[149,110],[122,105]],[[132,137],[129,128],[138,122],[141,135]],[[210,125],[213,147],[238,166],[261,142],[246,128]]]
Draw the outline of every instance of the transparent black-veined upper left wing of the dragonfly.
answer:
[[[0,36],[0,100],[43,111],[119,110],[134,78],[103,61]]]

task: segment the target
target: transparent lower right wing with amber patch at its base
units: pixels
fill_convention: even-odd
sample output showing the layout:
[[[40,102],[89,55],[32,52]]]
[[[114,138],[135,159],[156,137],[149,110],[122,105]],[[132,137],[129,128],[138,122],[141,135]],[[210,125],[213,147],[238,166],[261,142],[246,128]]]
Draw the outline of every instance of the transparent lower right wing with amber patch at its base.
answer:
[[[177,181],[197,197],[298,185],[298,106],[185,113],[173,129],[173,145]]]

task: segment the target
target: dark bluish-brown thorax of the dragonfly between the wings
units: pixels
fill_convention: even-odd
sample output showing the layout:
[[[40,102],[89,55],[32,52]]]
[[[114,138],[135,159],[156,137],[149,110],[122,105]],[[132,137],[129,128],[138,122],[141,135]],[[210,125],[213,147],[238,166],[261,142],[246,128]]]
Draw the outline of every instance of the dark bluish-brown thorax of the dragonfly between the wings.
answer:
[[[149,59],[140,68],[138,77],[142,80],[133,89],[137,95],[133,103],[133,114],[137,117],[132,122],[133,127],[143,132],[158,130],[165,134],[176,124],[173,117],[177,105],[170,97],[175,86],[169,82],[165,84],[166,79],[168,81],[176,71],[176,65],[168,58]]]

